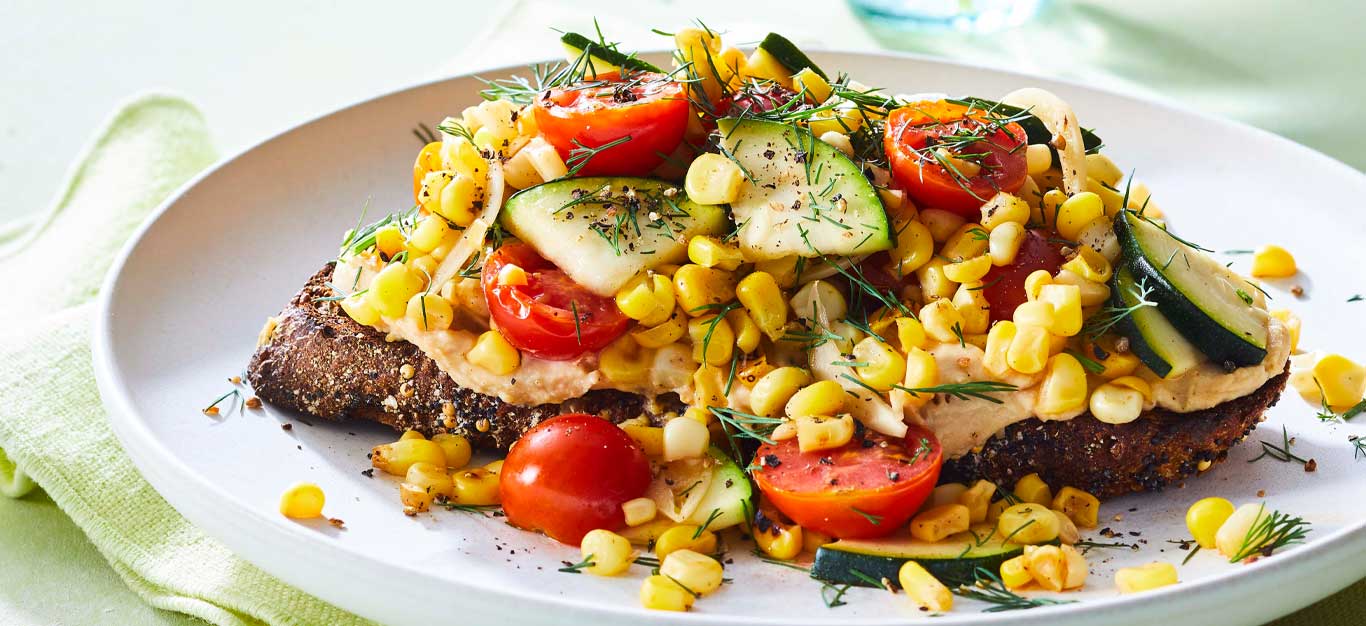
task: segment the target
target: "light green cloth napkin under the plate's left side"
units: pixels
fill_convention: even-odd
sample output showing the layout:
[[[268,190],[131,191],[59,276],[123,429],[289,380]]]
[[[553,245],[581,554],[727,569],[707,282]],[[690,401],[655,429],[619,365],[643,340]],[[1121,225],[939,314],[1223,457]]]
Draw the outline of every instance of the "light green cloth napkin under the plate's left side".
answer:
[[[152,607],[217,625],[366,623],[287,586],[190,525],[138,474],[100,403],[89,346],[100,282],[148,213],[213,160],[193,105],[143,96],[96,135],[45,216],[27,228],[0,231],[8,235],[0,241],[0,275],[12,279],[16,291],[10,294],[18,294],[0,313],[0,492],[16,498],[41,487]],[[22,504],[42,502],[30,495]],[[0,519],[18,519],[16,506],[5,503]],[[79,580],[60,592],[51,585],[22,592],[27,578],[20,577],[48,574],[44,559],[74,570],[66,552],[78,559],[90,552],[53,511],[27,518],[51,525],[29,528],[23,537],[4,526],[4,543],[15,544],[20,558],[5,551],[0,597],[30,611],[5,622],[128,623]],[[90,582],[109,588],[98,575]],[[52,611],[51,603],[61,610]],[[183,622],[122,610],[128,621]]]

